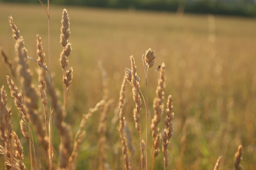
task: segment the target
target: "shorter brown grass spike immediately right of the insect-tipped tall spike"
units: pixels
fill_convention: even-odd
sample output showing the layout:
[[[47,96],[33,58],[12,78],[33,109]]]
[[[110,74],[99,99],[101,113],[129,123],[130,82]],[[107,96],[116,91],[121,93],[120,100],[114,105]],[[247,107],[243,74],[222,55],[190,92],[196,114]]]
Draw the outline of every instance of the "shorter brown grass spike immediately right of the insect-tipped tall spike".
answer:
[[[166,128],[164,129],[164,134],[162,137],[162,141],[163,141],[162,151],[164,153],[164,170],[168,166],[168,149],[167,149],[167,147],[169,144],[169,139],[173,135],[172,120],[174,117],[174,113],[172,113],[172,111],[173,111],[173,99],[172,99],[171,95],[169,95],[168,100],[167,100],[166,118],[164,119],[164,124],[165,124]]]

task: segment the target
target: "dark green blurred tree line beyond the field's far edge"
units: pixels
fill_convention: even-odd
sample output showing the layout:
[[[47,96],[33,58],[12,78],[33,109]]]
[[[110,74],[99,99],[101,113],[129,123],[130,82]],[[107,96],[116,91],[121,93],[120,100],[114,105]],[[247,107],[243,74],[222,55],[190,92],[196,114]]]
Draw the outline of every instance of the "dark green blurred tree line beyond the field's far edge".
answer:
[[[39,3],[38,0],[0,0],[2,2]],[[50,0],[52,4],[87,7],[212,13],[256,16],[255,0]]]

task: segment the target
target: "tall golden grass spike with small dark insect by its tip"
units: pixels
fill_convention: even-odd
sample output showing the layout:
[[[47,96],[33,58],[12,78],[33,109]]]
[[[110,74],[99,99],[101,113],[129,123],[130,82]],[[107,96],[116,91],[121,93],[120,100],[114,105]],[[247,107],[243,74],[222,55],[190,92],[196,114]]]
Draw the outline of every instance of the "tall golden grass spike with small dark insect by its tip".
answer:
[[[165,71],[165,64],[162,63],[162,65],[159,68],[159,78],[158,78],[158,85],[156,89],[156,97],[153,102],[153,108],[155,110],[154,117],[152,119],[151,123],[151,130],[152,130],[152,137],[153,137],[153,148],[154,151],[152,155],[152,170],[154,169],[154,161],[155,157],[159,154],[159,144],[160,144],[160,134],[159,134],[159,128],[157,128],[157,125],[161,121],[163,109],[164,109],[164,88],[165,88],[165,79],[166,77],[164,76],[164,71]]]

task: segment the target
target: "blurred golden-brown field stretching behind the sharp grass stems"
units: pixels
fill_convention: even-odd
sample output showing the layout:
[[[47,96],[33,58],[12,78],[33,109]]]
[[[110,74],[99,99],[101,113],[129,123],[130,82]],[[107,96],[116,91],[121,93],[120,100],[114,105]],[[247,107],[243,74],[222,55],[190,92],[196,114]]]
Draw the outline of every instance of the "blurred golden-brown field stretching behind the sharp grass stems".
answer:
[[[62,48],[59,37],[63,8],[50,8],[52,71],[55,73],[54,84],[59,91],[62,91],[62,71],[58,60]],[[70,16],[71,27],[69,41],[72,43],[72,53],[69,66],[74,68],[66,120],[74,127],[74,133],[81,115],[87,113],[88,108],[102,97],[101,72],[97,63],[102,61],[106,69],[110,96],[117,103],[124,70],[130,68],[129,55],[135,56],[141,90],[145,91],[141,55],[151,48],[157,57],[157,63],[148,73],[151,114],[158,77],[156,69],[162,62],[166,64],[166,98],[169,94],[173,96],[175,129],[170,139],[168,168],[210,170],[214,168],[218,156],[222,155],[220,169],[233,169],[234,154],[238,145],[242,144],[243,169],[256,169],[255,18],[215,16],[212,19],[208,15],[65,8]],[[15,56],[15,41],[8,22],[10,15],[25,40],[29,56],[36,58],[36,33],[41,35],[44,51],[48,54],[47,16],[43,8],[39,5],[0,4],[0,46],[8,56],[11,59]],[[209,29],[211,22],[216,27],[212,31]],[[0,83],[8,90],[5,75],[9,72],[1,61]],[[29,61],[29,65],[34,70],[34,82],[37,84],[37,66],[32,61]],[[132,118],[134,103],[130,84],[127,84],[126,95],[126,119],[132,131],[132,142],[139,154],[139,135]],[[10,95],[8,101],[13,106],[13,117],[17,117]],[[111,155],[108,162],[113,169],[120,169],[120,155],[114,156],[117,153],[115,148],[120,143],[115,128],[118,124],[111,124],[116,106],[108,114],[107,149],[108,155]],[[144,111],[143,108],[142,117]],[[81,169],[97,167],[97,114],[87,125],[87,135],[78,162],[78,168]],[[13,118],[12,121],[18,126],[17,119]],[[163,121],[160,124],[164,126]],[[15,128],[18,131],[18,127]],[[22,138],[21,135],[19,137]],[[26,140],[22,142],[26,150]],[[54,142],[58,147],[58,141]],[[163,167],[162,153],[159,155],[156,159],[156,167],[159,168],[156,169]],[[27,156],[25,153],[25,159]]]

